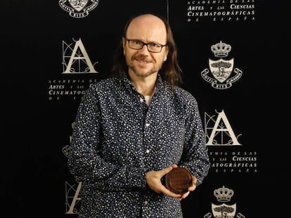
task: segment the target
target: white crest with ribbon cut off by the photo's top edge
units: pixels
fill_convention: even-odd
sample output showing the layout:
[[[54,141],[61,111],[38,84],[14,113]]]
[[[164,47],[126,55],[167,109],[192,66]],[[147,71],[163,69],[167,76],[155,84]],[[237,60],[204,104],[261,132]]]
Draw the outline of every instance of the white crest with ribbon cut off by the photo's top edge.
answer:
[[[98,6],[98,0],[60,0],[58,4],[72,18],[84,18]]]

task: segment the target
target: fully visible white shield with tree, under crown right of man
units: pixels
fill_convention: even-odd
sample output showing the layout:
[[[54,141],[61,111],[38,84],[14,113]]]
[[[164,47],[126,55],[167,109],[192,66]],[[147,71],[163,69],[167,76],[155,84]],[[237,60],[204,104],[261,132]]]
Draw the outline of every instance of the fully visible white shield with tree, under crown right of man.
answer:
[[[209,69],[214,76],[214,79],[223,83],[231,76],[231,72],[233,71],[233,58],[231,60],[224,60],[220,58],[219,60],[211,60],[209,58]]]

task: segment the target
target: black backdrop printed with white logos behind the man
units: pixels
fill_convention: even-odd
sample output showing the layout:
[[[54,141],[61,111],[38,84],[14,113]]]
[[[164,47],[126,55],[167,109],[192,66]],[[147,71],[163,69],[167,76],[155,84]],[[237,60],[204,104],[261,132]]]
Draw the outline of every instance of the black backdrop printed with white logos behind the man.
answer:
[[[67,170],[65,149],[82,90],[108,76],[125,22],[144,11],[164,15],[172,25],[183,88],[198,100],[207,139],[214,130],[210,123],[219,115],[238,139],[238,144],[208,141],[212,168],[205,182],[182,201],[184,217],[215,217],[213,207],[222,203],[234,209],[228,217],[285,216],[290,198],[290,70],[285,58],[290,56],[290,19],[283,1],[92,0],[87,6],[94,3],[84,17],[84,8],[78,12],[67,1],[0,3],[3,217],[77,217],[79,203],[69,211],[78,184]],[[61,5],[81,17],[72,17]],[[210,15],[212,10],[221,14]],[[203,15],[190,16],[189,11]],[[96,73],[63,74],[65,57],[78,39]],[[222,57],[225,62],[233,58],[229,78],[241,73],[231,87],[221,89],[202,77],[207,71],[207,78],[217,82],[209,60],[217,60],[210,48],[220,41],[231,45],[228,57]],[[234,139],[231,132],[225,133]],[[228,200],[214,196],[222,187],[227,188]]]

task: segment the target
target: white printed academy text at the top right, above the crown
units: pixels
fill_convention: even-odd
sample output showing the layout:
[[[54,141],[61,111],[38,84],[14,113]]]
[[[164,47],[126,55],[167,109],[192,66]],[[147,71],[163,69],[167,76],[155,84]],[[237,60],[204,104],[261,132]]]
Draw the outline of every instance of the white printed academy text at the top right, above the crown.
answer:
[[[256,0],[187,1],[187,22],[256,20]]]

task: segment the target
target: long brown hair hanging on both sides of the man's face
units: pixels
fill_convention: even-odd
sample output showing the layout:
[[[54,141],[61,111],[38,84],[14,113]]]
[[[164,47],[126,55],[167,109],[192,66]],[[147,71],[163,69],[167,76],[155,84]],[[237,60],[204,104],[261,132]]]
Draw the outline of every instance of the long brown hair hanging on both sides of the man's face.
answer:
[[[155,15],[153,13],[143,13],[139,15],[144,14],[151,14]],[[122,37],[127,36],[127,29],[129,27],[129,24],[131,23],[134,18],[138,17],[139,15],[135,15],[134,17],[131,17],[127,24],[124,27]],[[178,53],[176,48],[176,43],[174,41],[174,36],[172,33],[172,29],[169,26],[169,22],[160,15],[155,15],[157,18],[160,18],[162,22],[164,22],[164,26],[166,27],[167,31],[167,46],[169,49],[169,53],[167,55],[167,60],[162,64],[162,68],[159,71],[159,74],[162,76],[162,79],[164,81],[167,81],[171,86],[180,86],[182,83],[182,70],[179,66],[178,62]],[[123,53],[123,46],[122,46],[122,39],[120,40],[119,46],[117,47],[114,62],[112,65],[112,69],[110,72],[110,76],[119,76],[122,77],[124,75],[127,75],[128,67],[127,63],[125,61],[124,53]]]

